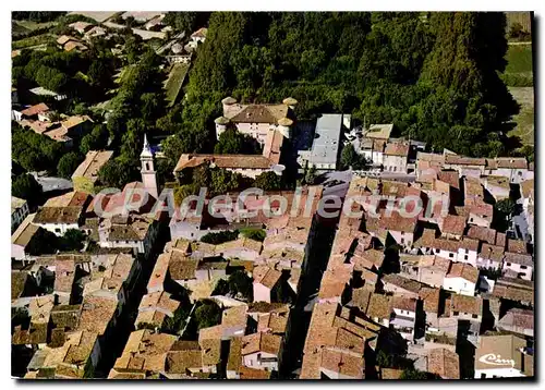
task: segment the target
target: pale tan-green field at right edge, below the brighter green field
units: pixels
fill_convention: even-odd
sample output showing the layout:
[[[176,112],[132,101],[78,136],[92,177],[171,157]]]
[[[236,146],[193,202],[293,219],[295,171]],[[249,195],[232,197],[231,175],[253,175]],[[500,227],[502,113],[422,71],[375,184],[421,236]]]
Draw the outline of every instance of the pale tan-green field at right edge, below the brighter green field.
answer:
[[[534,145],[534,88],[510,87],[509,92],[520,105],[520,112],[513,117],[517,125],[508,135],[518,136],[523,145]]]

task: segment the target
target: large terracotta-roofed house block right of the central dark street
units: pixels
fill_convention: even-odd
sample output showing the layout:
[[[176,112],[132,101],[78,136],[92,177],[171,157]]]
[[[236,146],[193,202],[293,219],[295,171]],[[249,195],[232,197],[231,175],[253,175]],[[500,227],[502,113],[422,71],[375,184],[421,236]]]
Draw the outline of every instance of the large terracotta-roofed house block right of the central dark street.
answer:
[[[383,350],[380,328],[407,341],[415,369],[445,379],[533,376],[532,233],[495,230],[486,196],[491,176],[520,184],[523,218],[533,222],[532,168],[518,158],[417,153],[415,169],[413,183],[352,179],[346,199],[364,200],[351,204],[359,217],[340,217],[301,378],[383,377],[363,358]],[[403,212],[409,196],[422,211]],[[393,368],[388,376],[399,378]]]

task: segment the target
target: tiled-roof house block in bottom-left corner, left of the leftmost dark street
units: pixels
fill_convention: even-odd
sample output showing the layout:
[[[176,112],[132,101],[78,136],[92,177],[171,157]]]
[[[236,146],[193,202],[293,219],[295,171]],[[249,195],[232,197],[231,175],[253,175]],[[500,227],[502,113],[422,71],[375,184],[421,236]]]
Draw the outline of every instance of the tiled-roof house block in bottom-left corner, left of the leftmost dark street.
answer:
[[[140,267],[119,253],[38,256],[12,270],[12,349],[33,354],[24,377],[93,377]]]

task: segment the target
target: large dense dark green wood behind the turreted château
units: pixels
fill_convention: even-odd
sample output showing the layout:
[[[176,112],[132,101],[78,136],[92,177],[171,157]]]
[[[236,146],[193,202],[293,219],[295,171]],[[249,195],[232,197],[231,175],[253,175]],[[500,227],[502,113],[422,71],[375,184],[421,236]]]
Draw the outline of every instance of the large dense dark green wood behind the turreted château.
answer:
[[[292,96],[300,120],[346,112],[431,149],[504,154],[501,124],[518,110],[498,76],[505,24],[499,12],[214,12],[174,136],[203,134],[195,147],[210,151],[223,97]]]

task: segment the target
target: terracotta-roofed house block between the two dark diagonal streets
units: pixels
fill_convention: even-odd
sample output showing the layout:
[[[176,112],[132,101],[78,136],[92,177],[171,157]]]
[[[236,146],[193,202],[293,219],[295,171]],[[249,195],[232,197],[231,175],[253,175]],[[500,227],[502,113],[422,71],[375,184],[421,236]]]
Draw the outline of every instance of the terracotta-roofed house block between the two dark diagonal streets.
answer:
[[[317,203],[319,195],[311,202]],[[195,237],[167,243],[141,301],[137,330],[109,378],[268,379],[278,375],[290,337],[288,302],[298,294],[301,272],[310,261],[315,222],[296,215],[262,216],[253,222],[265,232],[263,242],[241,233],[221,244]],[[234,272],[251,278],[251,297],[215,293]],[[190,292],[190,302],[175,300],[180,289]],[[197,340],[184,338],[185,327],[178,333],[158,331],[177,310],[190,312],[189,324],[194,307],[207,300],[221,308],[221,319],[199,329]]]

